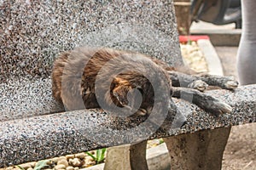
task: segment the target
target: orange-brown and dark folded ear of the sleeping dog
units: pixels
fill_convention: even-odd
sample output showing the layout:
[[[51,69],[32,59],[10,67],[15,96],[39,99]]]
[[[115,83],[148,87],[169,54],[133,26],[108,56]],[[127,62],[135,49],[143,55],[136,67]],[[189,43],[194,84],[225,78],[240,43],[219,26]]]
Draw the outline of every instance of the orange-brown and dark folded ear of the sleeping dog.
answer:
[[[114,78],[113,83],[113,97],[118,100],[120,105],[128,105],[127,93],[131,90],[130,83],[120,77]]]

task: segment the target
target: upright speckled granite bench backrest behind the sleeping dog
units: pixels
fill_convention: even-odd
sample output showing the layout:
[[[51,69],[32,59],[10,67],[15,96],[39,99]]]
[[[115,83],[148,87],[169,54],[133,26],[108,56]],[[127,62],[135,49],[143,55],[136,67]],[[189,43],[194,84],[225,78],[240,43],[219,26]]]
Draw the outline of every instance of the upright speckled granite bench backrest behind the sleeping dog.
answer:
[[[49,77],[56,54],[81,45],[181,64],[172,7],[172,0],[0,1],[0,82]]]

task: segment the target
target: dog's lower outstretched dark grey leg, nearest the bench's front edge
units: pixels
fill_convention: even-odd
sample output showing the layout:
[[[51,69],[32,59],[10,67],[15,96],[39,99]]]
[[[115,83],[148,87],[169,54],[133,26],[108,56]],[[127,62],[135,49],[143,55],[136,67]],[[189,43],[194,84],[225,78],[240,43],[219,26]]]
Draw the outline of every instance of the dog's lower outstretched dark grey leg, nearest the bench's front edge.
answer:
[[[232,108],[219,99],[190,88],[172,88],[172,97],[184,99],[213,114],[230,113]]]

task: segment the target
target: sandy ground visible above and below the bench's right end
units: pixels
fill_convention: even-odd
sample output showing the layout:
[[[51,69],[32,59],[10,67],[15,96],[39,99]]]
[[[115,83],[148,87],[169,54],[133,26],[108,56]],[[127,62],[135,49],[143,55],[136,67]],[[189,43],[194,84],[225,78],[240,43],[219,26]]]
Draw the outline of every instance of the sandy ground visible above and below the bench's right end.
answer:
[[[237,47],[215,47],[221,59],[224,75],[236,73]],[[256,123],[232,127],[230,139],[224,151],[223,170],[256,169]]]

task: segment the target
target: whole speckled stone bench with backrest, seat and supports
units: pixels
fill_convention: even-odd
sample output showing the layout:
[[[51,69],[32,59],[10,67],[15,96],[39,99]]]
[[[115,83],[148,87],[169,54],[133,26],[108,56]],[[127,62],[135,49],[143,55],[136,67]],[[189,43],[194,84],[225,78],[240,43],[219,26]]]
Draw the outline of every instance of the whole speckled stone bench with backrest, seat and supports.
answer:
[[[51,96],[49,78],[52,62],[61,51],[104,46],[183,65],[172,1],[112,2],[0,3],[0,167],[131,144],[121,151],[109,149],[114,154],[108,154],[105,168],[147,169],[145,140],[165,138],[173,169],[219,169],[230,127],[256,122],[255,85],[235,93],[207,92],[232,105],[230,115],[212,116],[175,99],[188,124],[146,137],[149,127],[120,133],[142,122],[139,119],[116,122],[100,110],[64,112]]]

